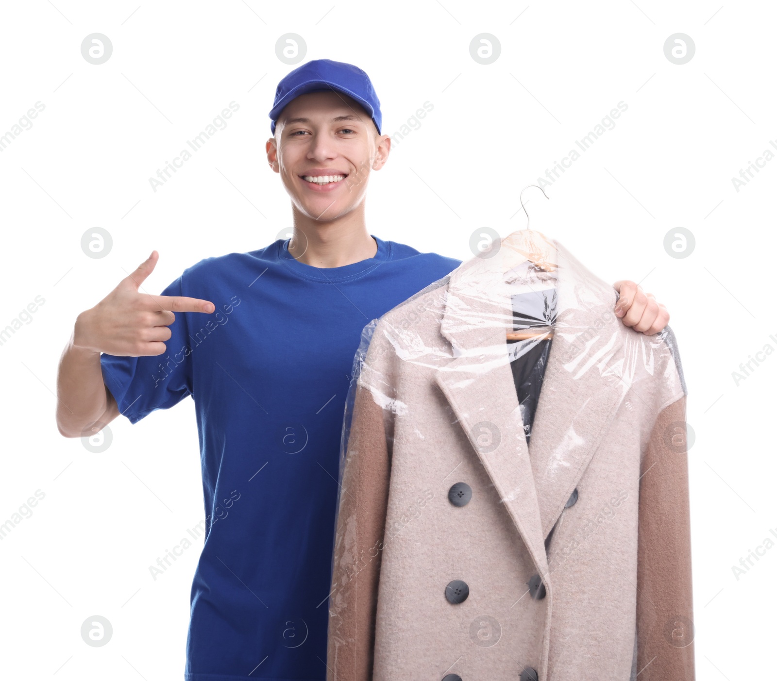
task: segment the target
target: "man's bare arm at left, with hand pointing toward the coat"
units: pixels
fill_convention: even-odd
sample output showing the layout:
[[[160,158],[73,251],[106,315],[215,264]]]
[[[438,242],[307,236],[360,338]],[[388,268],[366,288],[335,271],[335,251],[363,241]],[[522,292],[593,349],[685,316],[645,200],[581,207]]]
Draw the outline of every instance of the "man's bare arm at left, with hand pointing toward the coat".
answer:
[[[100,353],[155,356],[166,353],[176,312],[212,312],[213,303],[138,291],[159,259],[156,251],[102,301],[78,315],[57,374],[57,428],[64,437],[96,433],[119,415],[103,382]]]

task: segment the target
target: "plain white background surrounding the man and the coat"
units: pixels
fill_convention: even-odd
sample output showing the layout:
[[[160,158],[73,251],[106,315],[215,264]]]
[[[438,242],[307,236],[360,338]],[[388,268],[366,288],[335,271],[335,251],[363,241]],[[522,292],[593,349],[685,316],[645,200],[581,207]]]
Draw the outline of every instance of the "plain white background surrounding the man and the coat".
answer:
[[[518,193],[545,175],[618,102],[628,109],[570,169],[524,196],[531,225],[589,269],[641,282],[671,311],[688,383],[696,665],[699,679],[774,678],[777,547],[736,579],[732,566],[777,532],[777,356],[737,386],[732,372],[777,348],[772,277],[777,159],[737,192],[732,178],[777,144],[774,29],[768,2],[394,2],[329,5],[4,3],[0,135],[45,109],[0,152],[0,328],[45,303],[0,346],[4,467],[0,523],[40,489],[33,515],[0,541],[0,676],[174,679],[183,672],[189,592],[200,544],[154,581],[148,566],[204,517],[193,402],[89,453],[54,421],[57,361],[76,315],[153,249],[159,292],[211,255],[269,244],[291,226],[267,166],[284,33],[302,61],[359,65],[386,134],[434,109],[392,149],[368,192],[368,229],[458,259],[488,226],[525,226]],[[104,64],[80,46],[113,43]],[[491,33],[493,64],[469,43]],[[695,55],[664,56],[686,33]],[[154,192],[148,178],[229,102],[239,110]],[[88,258],[81,238],[110,232]],[[675,259],[664,235],[695,250]],[[355,348],[354,348],[355,349]],[[774,538],[774,537],[772,537]],[[113,624],[110,645],[82,641],[85,618]]]

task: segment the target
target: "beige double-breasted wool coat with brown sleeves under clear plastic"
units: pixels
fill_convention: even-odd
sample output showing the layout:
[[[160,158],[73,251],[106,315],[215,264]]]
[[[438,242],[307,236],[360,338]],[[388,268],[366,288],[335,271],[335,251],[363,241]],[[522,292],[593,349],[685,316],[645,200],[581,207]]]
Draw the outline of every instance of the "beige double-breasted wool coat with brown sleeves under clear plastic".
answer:
[[[499,254],[377,321],[343,438],[328,681],[694,679],[674,334],[622,325],[555,245],[531,446]]]

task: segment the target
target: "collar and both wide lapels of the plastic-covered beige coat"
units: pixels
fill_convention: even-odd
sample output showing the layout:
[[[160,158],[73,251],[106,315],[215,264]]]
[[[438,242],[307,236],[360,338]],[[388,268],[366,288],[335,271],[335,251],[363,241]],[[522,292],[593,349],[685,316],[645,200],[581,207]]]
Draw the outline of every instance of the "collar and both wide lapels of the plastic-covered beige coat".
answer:
[[[628,389],[615,290],[553,243],[558,307],[531,446],[507,354],[513,313],[500,252],[451,273],[441,334],[453,359],[434,377],[542,575],[545,537]]]

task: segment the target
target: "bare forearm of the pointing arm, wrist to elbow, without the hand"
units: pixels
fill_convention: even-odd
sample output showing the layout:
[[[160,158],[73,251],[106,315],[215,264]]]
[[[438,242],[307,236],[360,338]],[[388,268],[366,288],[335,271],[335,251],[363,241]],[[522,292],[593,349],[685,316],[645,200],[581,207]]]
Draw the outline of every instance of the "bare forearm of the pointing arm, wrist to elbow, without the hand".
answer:
[[[75,330],[57,372],[57,428],[65,437],[81,437],[83,429],[99,421],[109,406],[99,351],[77,346],[74,339]]]

